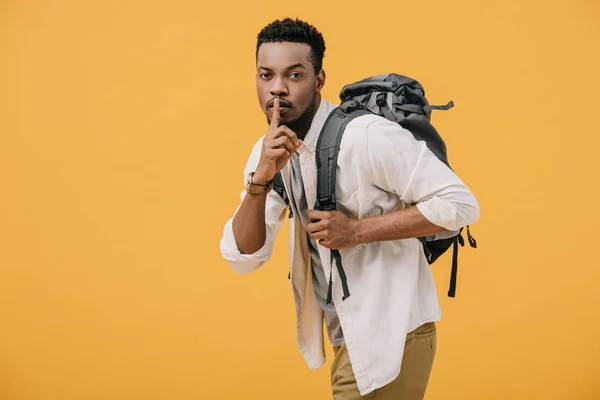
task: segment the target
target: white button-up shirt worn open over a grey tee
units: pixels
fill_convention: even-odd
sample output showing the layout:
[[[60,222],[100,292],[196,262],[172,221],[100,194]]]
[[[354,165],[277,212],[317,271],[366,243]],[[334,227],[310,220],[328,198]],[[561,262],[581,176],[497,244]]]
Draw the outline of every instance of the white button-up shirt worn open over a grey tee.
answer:
[[[306,199],[317,193],[315,150],[319,132],[336,107],[321,101],[298,149]],[[260,138],[246,164],[245,177],[255,171]],[[395,122],[363,115],[347,126],[337,161],[337,209],[367,218],[411,206],[433,224],[458,230],[479,218],[477,200],[461,179],[424,142]],[[289,193],[289,164],[282,169]],[[243,191],[243,201],[246,192]],[[233,217],[225,224],[221,253],[236,271],[249,273],[271,257],[277,233],[286,218],[286,204],[275,191],[266,200],[266,241],[254,254],[241,254],[233,235]],[[238,209],[239,210],[239,207]],[[237,213],[237,210],[235,213]],[[296,306],[297,341],[310,369],[325,363],[323,311],[317,302],[309,268],[307,236],[297,210],[289,223],[291,287]],[[234,214],[235,216],[235,214]],[[330,250],[318,245],[326,276]],[[339,316],[352,369],[361,395],[393,381],[400,373],[406,334],[425,322],[439,321],[435,283],[421,242],[414,239],[361,244],[340,250],[350,297],[342,300],[337,268],[333,269],[333,304]]]

